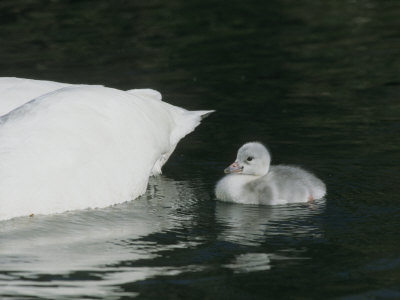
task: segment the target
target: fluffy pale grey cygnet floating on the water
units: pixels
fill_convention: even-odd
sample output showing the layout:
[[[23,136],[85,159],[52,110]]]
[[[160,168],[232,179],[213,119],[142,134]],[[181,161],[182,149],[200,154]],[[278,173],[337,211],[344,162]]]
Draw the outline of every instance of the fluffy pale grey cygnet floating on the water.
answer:
[[[309,202],[326,194],[325,184],[299,167],[270,166],[271,156],[258,142],[244,144],[227,175],[216,185],[217,199],[243,204]]]

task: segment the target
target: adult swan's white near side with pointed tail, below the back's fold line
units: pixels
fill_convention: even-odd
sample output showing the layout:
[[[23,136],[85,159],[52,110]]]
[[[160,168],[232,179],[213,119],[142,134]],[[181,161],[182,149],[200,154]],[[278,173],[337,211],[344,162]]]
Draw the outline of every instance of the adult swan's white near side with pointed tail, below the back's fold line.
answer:
[[[106,207],[143,194],[149,176],[211,112],[155,95],[67,86],[2,116],[0,220]]]

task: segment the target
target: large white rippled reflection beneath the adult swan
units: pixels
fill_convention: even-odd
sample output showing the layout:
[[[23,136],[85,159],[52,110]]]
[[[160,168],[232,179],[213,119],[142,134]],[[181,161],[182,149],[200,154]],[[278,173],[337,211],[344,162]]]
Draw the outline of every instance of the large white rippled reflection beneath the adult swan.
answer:
[[[118,298],[118,286],[155,275],[176,275],[196,266],[114,267],[151,259],[165,249],[140,238],[187,226],[196,199],[186,182],[157,177],[140,199],[99,210],[84,210],[3,221],[0,231],[2,295]],[[136,240],[137,243],[127,243]],[[191,242],[193,245],[193,242]],[[45,280],[51,277],[51,281]],[[70,279],[74,280],[70,280]],[[129,294],[133,296],[134,294]],[[125,294],[126,296],[126,294]]]

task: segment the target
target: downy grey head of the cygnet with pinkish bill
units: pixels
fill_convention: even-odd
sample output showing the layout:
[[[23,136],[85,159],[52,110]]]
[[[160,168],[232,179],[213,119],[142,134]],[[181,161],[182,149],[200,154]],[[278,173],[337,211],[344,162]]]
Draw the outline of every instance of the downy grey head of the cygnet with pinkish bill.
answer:
[[[244,144],[238,150],[236,160],[225,173],[263,176],[268,173],[271,156],[264,145],[258,142]]]

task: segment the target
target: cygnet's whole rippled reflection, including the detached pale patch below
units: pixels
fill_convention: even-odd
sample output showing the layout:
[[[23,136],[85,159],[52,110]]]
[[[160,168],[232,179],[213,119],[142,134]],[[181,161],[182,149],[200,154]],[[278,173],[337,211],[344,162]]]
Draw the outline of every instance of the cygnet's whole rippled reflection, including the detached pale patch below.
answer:
[[[222,224],[218,239],[246,247],[257,247],[267,253],[244,253],[225,265],[234,273],[248,273],[271,269],[271,261],[310,259],[305,249],[291,246],[290,239],[323,237],[315,220],[325,210],[325,200],[313,204],[253,206],[217,202],[216,219]],[[276,243],[280,243],[278,247]],[[275,244],[275,245],[274,245]]]

